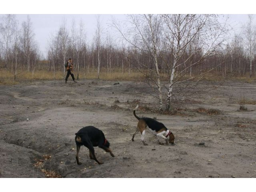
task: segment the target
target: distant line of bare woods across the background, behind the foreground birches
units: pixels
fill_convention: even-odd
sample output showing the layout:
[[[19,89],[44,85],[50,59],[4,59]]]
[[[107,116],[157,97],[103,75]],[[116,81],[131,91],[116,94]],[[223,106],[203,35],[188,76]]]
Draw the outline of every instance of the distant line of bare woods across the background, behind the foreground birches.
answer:
[[[136,20],[133,17],[137,17]],[[130,16],[130,21],[133,23],[142,23],[142,20],[143,16]],[[97,18],[96,25],[94,38],[88,43],[86,28],[82,20],[78,26],[73,20],[71,24],[68,24],[69,27],[63,21],[58,32],[50,34],[47,55],[44,57],[34,39],[35,34],[30,17],[28,16],[27,20],[22,22],[21,28],[18,28],[18,21],[15,15],[4,15],[0,19],[0,67],[10,71],[14,71],[16,67],[18,70],[27,71],[62,71],[66,60],[72,57],[76,64],[76,70],[79,72],[78,74],[94,72],[99,69],[104,69],[108,72],[116,69],[130,72],[136,68],[154,68],[154,60],[146,52],[132,44],[120,44],[120,40],[114,38],[111,34],[104,33],[106,29],[102,28],[100,18]],[[143,27],[141,26],[141,28]],[[133,29],[129,30],[128,32],[135,40],[137,32]],[[149,33],[149,31],[144,32],[145,34]],[[158,41],[160,40],[158,39]],[[193,63],[194,60],[202,57],[205,50],[196,46],[204,42],[199,41],[202,41],[200,37],[198,37],[198,42],[191,42],[189,47],[186,48],[186,52],[179,61],[184,65],[180,65],[179,70],[182,70],[182,67],[186,67],[185,61],[190,55],[189,52],[196,51],[189,58],[189,62]],[[141,46],[143,45],[141,44]],[[159,52],[156,55],[159,60],[160,72],[162,73],[168,71],[168,66],[164,64],[165,61],[173,59],[173,55],[166,51],[165,46],[168,45],[162,43],[161,47],[158,47]],[[248,73],[251,76],[256,76],[255,54],[255,26],[252,23],[252,16],[249,15],[248,22],[244,25],[243,35],[237,34],[234,37],[229,37],[228,43],[222,44],[222,46],[214,50],[214,54],[209,55],[208,58],[187,70],[191,75],[198,74],[202,70],[214,68],[214,71],[223,77],[227,74],[244,76]]]

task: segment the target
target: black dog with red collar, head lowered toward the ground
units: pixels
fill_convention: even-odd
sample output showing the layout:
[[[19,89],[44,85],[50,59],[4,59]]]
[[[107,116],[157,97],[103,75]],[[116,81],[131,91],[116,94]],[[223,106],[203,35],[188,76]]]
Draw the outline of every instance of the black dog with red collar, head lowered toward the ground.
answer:
[[[110,143],[106,140],[104,133],[94,126],[86,126],[80,129],[76,133],[75,141],[76,141],[76,162],[78,165],[82,164],[81,162],[79,162],[79,159],[78,159],[78,153],[82,145],[86,146],[89,149],[90,158],[94,159],[98,164],[103,164],[103,162],[100,162],[96,159],[93,147],[98,146],[99,148],[104,149],[106,152],[109,152],[110,155],[114,157],[114,154],[109,148]]]

